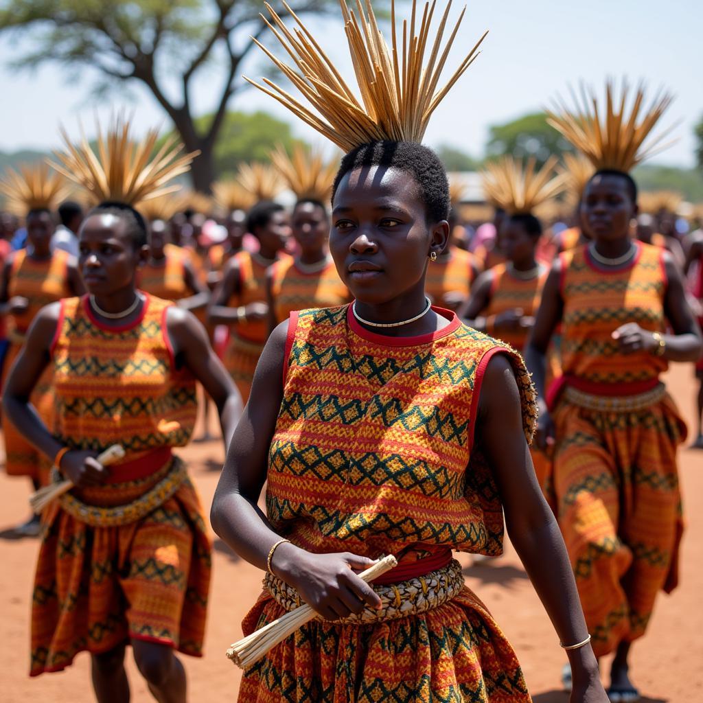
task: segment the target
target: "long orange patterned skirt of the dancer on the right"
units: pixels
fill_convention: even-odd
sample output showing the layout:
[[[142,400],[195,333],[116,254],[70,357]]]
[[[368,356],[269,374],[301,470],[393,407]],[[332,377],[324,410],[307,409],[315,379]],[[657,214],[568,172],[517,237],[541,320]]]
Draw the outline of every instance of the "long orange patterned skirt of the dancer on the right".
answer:
[[[686,428],[668,394],[637,409],[563,398],[553,418],[553,488],[596,656],[643,636],[678,581],[683,532],[676,446]]]

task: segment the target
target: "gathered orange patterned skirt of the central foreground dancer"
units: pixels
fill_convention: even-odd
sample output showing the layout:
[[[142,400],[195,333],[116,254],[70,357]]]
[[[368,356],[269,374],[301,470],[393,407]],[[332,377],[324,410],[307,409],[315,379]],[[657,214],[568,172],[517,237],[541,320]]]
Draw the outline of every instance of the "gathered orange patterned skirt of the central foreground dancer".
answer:
[[[246,635],[285,609],[264,591]],[[527,703],[515,652],[486,606],[463,588],[432,610],[374,624],[314,620],[254,664],[239,703],[451,701]]]

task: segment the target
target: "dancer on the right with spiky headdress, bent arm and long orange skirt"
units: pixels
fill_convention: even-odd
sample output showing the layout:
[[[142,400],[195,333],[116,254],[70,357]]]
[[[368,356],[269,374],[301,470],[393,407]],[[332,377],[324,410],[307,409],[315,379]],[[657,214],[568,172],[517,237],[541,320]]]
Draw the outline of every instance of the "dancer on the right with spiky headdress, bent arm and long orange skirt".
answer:
[[[637,124],[608,92],[607,124]],[[641,139],[666,104],[643,117]],[[632,701],[631,645],[658,591],[676,586],[682,526],[676,447],[685,425],[659,376],[669,361],[695,361],[701,340],[669,252],[630,236],[637,187],[628,171],[645,155],[640,143],[612,130],[605,141],[585,138],[572,124],[596,134],[598,113],[576,114],[553,115],[553,124],[597,169],[582,204],[592,242],[554,263],[527,361],[543,399],[546,349],[561,325],[562,392],[540,408],[538,446],[556,443],[557,515],[593,650],[615,654],[610,699]]]

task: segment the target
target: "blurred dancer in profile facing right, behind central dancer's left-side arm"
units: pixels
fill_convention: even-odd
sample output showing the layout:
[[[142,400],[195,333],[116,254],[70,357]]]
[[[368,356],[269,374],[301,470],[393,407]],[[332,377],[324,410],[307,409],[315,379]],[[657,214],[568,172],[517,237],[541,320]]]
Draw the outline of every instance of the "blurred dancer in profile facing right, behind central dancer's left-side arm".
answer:
[[[235,254],[224,267],[221,283],[208,309],[211,325],[228,325],[232,335],[225,366],[246,403],[254,369],[269,336],[266,271],[279,259],[290,236],[288,213],[283,205],[262,201],[247,217],[247,231],[259,241],[256,253]]]

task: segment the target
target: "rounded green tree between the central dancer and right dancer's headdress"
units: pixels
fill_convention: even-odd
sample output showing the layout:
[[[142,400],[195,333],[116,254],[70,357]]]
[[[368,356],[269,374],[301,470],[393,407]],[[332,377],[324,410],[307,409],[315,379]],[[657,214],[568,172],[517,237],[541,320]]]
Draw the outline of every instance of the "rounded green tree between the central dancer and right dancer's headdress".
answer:
[[[544,112],[532,112],[504,124],[489,127],[486,155],[516,157],[534,156],[542,165],[550,155],[559,156],[574,148],[553,127],[547,124]]]

